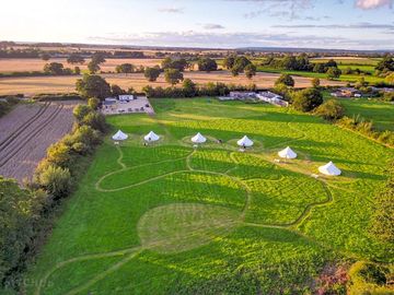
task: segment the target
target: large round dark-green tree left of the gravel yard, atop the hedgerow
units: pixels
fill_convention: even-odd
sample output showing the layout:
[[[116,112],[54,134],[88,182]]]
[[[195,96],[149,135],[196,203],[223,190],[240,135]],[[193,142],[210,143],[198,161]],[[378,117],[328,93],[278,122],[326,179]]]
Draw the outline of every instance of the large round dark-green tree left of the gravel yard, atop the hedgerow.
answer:
[[[100,75],[84,74],[82,79],[77,80],[77,91],[84,97],[96,97],[104,99],[111,96],[111,86]]]

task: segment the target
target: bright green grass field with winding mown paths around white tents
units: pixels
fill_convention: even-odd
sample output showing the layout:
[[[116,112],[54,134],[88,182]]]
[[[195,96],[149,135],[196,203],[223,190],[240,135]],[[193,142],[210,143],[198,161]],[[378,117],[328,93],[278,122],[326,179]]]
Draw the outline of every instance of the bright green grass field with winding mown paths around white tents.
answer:
[[[368,229],[393,150],[265,104],[151,103],[155,116],[108,118],[129,138],[95,154],[27,294],[312,294],[327,266],[393,262]],[[240,152],[244,134],[255,145]],[[277,163],[287,145],[299,158]],[[328,161],[341,176],[311,177]]]

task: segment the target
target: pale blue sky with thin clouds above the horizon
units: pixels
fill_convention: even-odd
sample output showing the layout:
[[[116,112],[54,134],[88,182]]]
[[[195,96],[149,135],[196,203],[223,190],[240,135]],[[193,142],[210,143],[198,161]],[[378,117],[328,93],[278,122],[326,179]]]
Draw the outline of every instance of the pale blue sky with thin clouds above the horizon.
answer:
[[[12,0],[0,40],[394,49],[394,0]]]

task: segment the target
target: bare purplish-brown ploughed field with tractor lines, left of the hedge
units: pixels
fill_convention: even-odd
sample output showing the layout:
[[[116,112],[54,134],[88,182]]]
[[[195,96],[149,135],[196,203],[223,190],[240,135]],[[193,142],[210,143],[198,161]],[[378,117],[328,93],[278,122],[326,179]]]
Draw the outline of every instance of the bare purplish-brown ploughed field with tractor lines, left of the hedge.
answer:
[[[30,179],[48,146],[71,130],[74,104],[22,104],[0,118],[0,175]]]

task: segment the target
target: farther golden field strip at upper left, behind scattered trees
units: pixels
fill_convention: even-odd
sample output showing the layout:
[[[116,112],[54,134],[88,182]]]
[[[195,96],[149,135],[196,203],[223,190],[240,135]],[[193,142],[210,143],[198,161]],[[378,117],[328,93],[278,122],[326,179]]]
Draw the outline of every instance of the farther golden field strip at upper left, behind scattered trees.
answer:
[[[67,63],[66,58],[54,58],[48,61],[37,59],[37,58],[20,58],[20,59],[0,59],[0,73],[10,73],[10,72],[23,72],[23,71],[43,71],[44,66],[48,62],[60,62],[65,68],[80,67],[81,70],[86,70],[86,64],[70,64]],[[160,64],[161,59],[107,59],[106,62],[101,64],[102,71],[115,71],[115,67],[120,63],[132,63],[137,67],[153,67]]]

